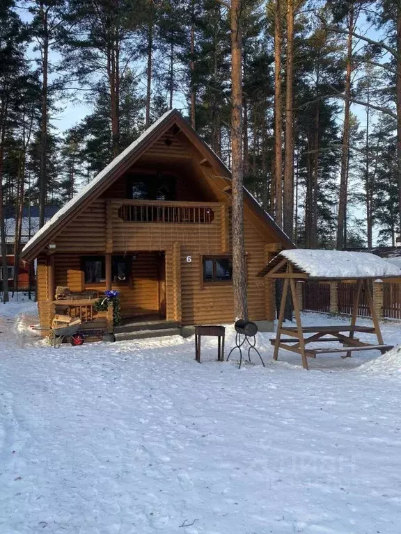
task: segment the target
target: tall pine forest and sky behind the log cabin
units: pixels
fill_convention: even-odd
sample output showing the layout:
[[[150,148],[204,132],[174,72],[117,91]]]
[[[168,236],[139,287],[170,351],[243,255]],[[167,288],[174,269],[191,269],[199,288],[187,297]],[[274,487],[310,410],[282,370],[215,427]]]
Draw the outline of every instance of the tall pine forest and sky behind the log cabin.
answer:
[[[401,4],[243,0],[244,181],[294,243],[395,245]],[[217,0],[0,0],[2,207],[62,205],[168,108],[230,166]],[[16,248],[21,228],[15,223]]]

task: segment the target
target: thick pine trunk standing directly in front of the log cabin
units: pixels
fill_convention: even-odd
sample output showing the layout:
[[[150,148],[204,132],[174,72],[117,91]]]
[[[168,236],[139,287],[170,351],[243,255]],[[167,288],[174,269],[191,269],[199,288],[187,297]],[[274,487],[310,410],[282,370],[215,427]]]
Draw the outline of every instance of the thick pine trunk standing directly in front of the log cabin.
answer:
[[[231,0],[231,163],[233,188],[233,293],[235,319],[248,318],[244,245],[244,162],[242,161],[242,0]]]

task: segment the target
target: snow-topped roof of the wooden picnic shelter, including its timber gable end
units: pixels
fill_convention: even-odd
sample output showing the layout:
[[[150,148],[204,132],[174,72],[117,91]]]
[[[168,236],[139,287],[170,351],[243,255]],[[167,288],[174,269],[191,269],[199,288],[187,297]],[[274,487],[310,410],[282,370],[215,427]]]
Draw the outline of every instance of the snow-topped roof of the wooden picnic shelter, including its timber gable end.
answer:
[[[401,268],[369,252],[345,250],[282,250],[259,277],[298,280],[362,280],[401,277]]]

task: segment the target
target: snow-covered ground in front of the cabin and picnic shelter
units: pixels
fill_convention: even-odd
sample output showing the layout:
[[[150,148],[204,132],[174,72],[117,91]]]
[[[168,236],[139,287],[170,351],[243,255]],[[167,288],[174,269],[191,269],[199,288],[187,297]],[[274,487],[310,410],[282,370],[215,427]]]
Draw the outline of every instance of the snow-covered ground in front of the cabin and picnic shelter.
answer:
[[[308,372],[264,334],[238,371],[212,341],[202,364],[180,337],[52,350],[34,304],[0,314],[1,534],[400,533],[398,353]]]

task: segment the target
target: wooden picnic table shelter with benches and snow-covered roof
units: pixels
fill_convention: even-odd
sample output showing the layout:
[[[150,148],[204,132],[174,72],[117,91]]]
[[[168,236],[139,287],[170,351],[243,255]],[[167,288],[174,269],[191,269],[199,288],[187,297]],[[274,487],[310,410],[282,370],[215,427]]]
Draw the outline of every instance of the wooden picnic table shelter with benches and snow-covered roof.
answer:
[[[302,366],[308,369],[308,357],[315,358],[318,354],[346,353],[350,356],[356,350],[380,350],[383,354],[393,348],[385,345],[382,332],[380,331],[377,312],[372,298],[370,283],[372,280],[383,278],[401,277],[401,269],[390,262],[366,252],[345,252],[339,250],[308,250],[292,249],[283,250],[274,257],[267,266],[258,274],[260,277],[283,279],[283,293],[281,296],[280,311],[276,338],[274,344],[274,359],[278,359],[278,350],[283,348],[292,353],[301,355]],[[335,282],[347,280],[356,283],[354,303],[352,307],[351,323],[338,326],[308,326],[303,327],[295,282],[302,280],[307,282]],[[356,325],[359,300],[362,288],[372,315],[373,326]],[[296,326],[283,327],[285,302],[290,289]],[[365,343],[354,337],[355,332],[371,333],[377,337],[377,343]],[[304,334],[310,334],[305,337]],[[287,336],[287,337],[282,337]],[[339,341],[341,348],[323,347],[309,348],[309,343]]]

